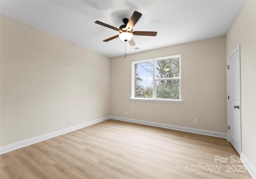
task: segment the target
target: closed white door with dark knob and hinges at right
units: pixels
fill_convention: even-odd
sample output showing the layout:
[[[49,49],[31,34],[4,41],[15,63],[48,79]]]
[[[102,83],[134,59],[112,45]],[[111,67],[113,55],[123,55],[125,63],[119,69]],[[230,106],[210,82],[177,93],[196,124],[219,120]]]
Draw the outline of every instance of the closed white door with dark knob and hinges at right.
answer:
[[[228,56],[228,140],[241,153],[240,46]]]

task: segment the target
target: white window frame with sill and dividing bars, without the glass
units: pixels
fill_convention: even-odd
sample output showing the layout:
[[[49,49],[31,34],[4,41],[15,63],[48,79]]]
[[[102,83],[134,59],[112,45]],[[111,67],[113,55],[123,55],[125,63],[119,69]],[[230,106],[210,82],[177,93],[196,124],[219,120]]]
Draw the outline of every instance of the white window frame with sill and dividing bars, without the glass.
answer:
[[[180,77],[179,78],[156,78],[156,61],[158,60],[166,60],[169,58],[180,58]],[[152,61],[153,63],[153,97],[152,98],[140,98],[140,97],[134,97],[134,64],[143,63],[143,62],[149,62]],[[179,80],[179,99],[162,99],[162,98],[156,98],[156,80]],[[132,97],[130,98],[131,101],[157,101],[157,102],[174,102],[174,103],[183,103],[183,100],[181,100],[181,55],[174,55],[174,56],[168,56],[168,57],[161,57],[161,58],[153,58],[148,60],[140,60],[136,62],[132,62]]]

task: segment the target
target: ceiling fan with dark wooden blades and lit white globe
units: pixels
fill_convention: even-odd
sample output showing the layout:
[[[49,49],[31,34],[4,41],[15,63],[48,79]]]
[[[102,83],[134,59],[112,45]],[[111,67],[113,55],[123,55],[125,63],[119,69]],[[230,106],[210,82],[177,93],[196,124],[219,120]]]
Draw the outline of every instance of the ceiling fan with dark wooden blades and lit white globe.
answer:
[[[125,41],[125,42],[129,42],[130,46],[135,46],[135,42],[132,39],[132,36],[156,36],[157,32],[150,32],[150,31],[133,31],[133,27],[135,26],[135,24],[138,22],[138,20],[140,19],[140,17],[142,16],[142,14],[140,12],[134,11],[134,13],[132,14],[132,17],[130,18],[130,20],[128,20],[127,18],[123,19],[124,24],[121,25],[118,28],[110,26],[108,24],[105,24],[103,22],[100,21],[95,21],[96,24],[99,24],[101,26],[105,26],[107,28],[113,29],[118,31],[120,34],[110,37],[106,40],[103,40],[103,42],[108,42],[110,40],[113,40],[115,38],[120,38],[121,40]]]

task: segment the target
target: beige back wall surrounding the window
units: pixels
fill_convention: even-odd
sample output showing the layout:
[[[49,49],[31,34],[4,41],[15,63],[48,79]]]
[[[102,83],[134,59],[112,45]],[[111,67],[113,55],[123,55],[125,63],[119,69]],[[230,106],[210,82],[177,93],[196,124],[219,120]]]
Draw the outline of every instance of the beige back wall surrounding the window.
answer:
[[[225,40],[221,36],[111,58],[111,115],[226,133]],[[184,103],[130,101],[133,61],[178,54]]]

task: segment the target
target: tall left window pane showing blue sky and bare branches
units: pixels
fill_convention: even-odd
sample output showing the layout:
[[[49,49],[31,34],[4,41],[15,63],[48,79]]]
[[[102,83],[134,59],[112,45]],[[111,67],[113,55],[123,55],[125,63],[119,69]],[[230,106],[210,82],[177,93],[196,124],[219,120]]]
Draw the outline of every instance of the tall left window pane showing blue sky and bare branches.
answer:
[[[153,62],[134,64],[134,97],[153,97]]]

